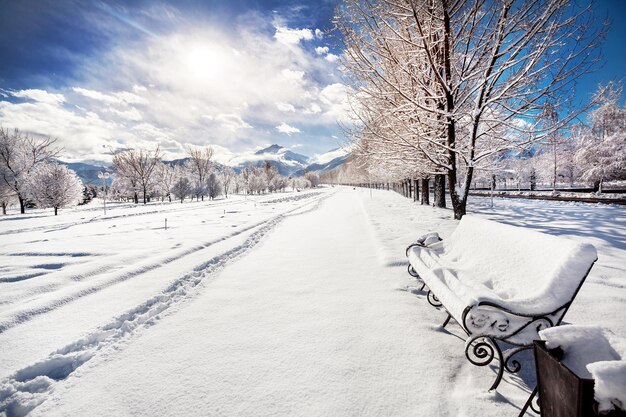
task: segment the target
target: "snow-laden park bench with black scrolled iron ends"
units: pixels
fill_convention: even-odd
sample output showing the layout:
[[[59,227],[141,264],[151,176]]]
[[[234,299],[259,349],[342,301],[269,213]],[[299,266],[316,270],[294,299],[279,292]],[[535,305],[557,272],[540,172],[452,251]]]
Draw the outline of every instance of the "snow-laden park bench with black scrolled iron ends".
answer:
[[[539,330],[560,324],[597,260],[590,244],[473,216],[428,245],[436,240],[407,248],[409,273],[427,287],[428,301],[448,312],[444,327],[454,318],[467,333],[472,364],[498,359],[490,389],[505,369],[519,371],[511,358],[530,349]]]

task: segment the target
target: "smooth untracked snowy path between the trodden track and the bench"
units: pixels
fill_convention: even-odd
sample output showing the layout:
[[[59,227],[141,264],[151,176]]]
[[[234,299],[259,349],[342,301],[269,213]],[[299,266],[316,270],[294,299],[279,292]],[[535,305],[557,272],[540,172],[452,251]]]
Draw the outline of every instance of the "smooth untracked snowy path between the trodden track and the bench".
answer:
[[[288,218],[175,314],[58,383],[33,415],[450,412],[420,391],[446,390],[456,361],[424,342],[416,299],[389,279],[371,232],[345,192]]]

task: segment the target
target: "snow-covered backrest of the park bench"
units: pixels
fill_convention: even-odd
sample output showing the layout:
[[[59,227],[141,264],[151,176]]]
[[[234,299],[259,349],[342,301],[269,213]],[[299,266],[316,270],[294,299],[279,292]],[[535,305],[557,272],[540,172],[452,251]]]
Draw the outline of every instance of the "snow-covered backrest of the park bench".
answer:
[[[571,301],[597,259],[593,245],[474,216],[443,243],[461,276],[471,271],[466,276],[504,300],[539,299],[542,310]]]

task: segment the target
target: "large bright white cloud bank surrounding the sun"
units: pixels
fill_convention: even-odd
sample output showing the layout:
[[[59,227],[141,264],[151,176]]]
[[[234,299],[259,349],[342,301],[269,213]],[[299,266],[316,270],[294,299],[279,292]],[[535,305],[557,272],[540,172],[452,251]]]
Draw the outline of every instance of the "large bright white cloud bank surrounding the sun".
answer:
[[[109,147],[157,143],[172,153],[180,149],[172,157],[184,156],[181,144],[188,142],[238,152],[273,143],[277,131],[315,140],[317,129],[326,136],[338,130],[336,66],[301,42],[313,40],[311,30],[281,23],[276,35],[268,34],[258,29],[266,22],[259,17],[258,24],[246,21],[228,32],[188,25],[116,42],[82,62],[81,84],[0,90],[0,123],[58,137],[62,157],[75,159],[107,159]],[[28,101],[7,100],[12,97]]]

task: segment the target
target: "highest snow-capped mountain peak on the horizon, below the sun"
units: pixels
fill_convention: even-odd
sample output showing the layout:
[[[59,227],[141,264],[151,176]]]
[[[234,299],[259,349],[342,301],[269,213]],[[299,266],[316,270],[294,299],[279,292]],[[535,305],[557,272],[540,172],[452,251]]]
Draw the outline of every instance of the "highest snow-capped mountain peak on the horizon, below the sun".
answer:
[[[252,155],[236,156],[228,161],[227,165],[240,172],[245,167],[262,167],[265,165],[265,161],[269,161],[280,175],[288,177],[302,171],[308,165],[309,157],[274,144],[258,150]]]

